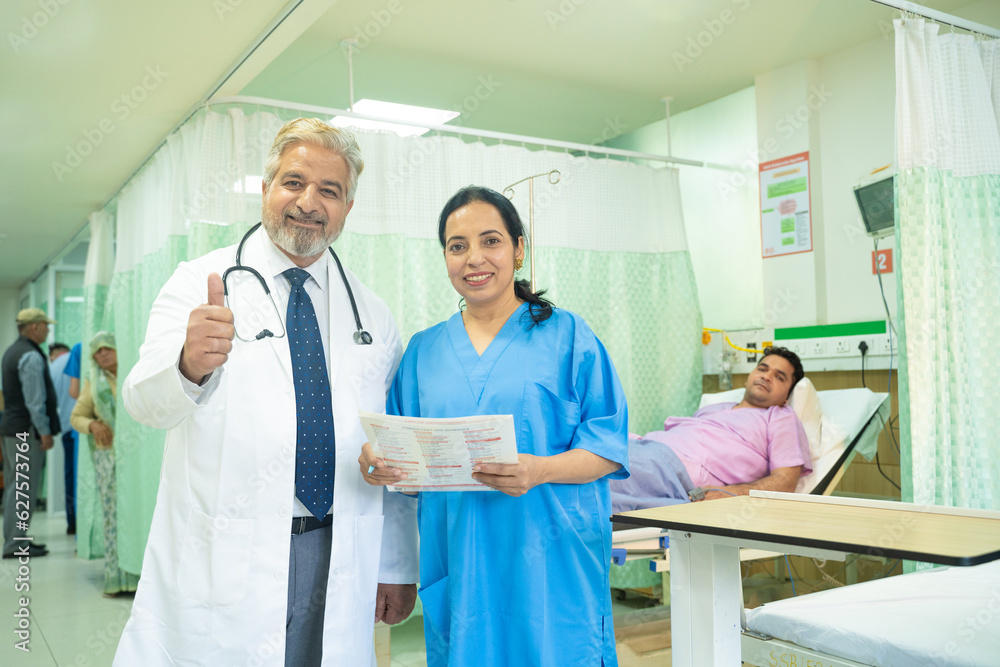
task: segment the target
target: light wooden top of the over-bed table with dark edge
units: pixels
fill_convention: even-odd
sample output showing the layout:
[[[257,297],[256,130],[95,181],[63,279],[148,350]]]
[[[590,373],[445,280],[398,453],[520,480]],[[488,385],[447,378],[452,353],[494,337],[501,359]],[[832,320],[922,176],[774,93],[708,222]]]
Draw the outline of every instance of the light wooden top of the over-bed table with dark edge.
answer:
[[[870,504],[880,506],[736,496],[623,512],[612,521],[939,565],[1000,559],[1000,518],[924,511],[907,503]]]

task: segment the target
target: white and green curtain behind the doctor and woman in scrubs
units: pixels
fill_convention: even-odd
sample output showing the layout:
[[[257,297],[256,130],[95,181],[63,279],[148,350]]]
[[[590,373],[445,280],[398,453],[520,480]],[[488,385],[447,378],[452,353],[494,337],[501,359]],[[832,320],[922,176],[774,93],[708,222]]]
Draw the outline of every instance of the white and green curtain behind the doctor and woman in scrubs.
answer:
[[[111,288],[122,373],[135,363],[150,305],[177,262],[236,243],[259,220],[264,156],[295,115],[237,106],[202,112],[123,190]],[[697,407],[701,314],[676,170],[450,137],[357,136],[366,167],[334,247],[386,300],[404,339],[458,307],[437,240],[448,198],[466,185],[503,190],[558,169],[558,184],[535,181],[536,288],[582,315],[604,342],[633,431]],[[527,183],[519,185],[514,203],[525,225],[527,196]],[[119,538],[130,570],[141,562],[164,436],[127,416],[119,421],[119,442],[134,450],[118,459],[120,525],[138,527]]]

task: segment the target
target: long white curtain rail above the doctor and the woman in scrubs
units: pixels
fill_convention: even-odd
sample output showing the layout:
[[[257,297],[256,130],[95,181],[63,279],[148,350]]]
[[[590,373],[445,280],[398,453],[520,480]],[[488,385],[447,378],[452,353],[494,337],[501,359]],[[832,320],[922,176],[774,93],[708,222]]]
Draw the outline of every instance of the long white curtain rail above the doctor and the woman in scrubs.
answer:
[[[667,164],[681,164],[690,167],[708,167],[711,169],[725,169],[731,170],[735,167],[722,164],[713,164],[709,162],[701,162],[698,160],[687,160],[685,158],[673,157],[670,155],[657,155],[655,153],[641,153],[639,151],[629,151],[621,148],[609,148],[606,146],[595,146],[592,144],[578,144],[569,141],[558,141],[556,139],[542,139],[540,137],[529,137],[521,134],[508,134],[506,132],[494,132],[492,130],[475,130],[467,129],[464,127],[456,125],[431,125],[428,123],[413,123],[409,121],[398,120],[396,118],[385,118],[383,116],[374,116],[371,114],[354,113],[352,111],[345,111],[343,109],[334,109],[332,107],[321,107],[312,104],[297,104],[295,102],[282,102],[280,100],[271,100],[263,97],[246,97],[246,96],[234,96],[234,97],[220,97],[214,100],[209,100],[205,103],[205,107],[216,104],[257,104],[261,106],[278,107],[281,109],[289,109],[291,111],[303,111],[306,113],[323,114],[325,116],[347,116],[349,118],[361,118],[364,120],[374,120],[383,123],[395,123],[397,125],[409,125],[411,127],[426,127],[435,132],[441,132],[445,134],[456,134],[462,136],[470,136],[481,139],[497,139],[499,141],[509,141],[512,143],[524,143],[532,144],[534,146],[544,146],[547,148],[561,148],[573,151],[583,151],[587,153],[599,153],[601,155],[614,155],[617,157],[632,158],[635,160],[652,160],[654,162],[664,162]]]

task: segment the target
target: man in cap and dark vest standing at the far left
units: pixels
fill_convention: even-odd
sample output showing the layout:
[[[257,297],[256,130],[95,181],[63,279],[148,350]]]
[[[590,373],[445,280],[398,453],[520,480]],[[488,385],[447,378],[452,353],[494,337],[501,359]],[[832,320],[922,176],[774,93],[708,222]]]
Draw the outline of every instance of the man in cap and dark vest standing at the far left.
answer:
[[[48,553],[44,544],[16,538],[23,538],[28,532],[41,485],[44,452],[52,448],[52,439],[59,432],[59,403],[40,347],[49,335],[50,324],[55,324],[55,320],[50,320],[40,308],[25,308],[19,312],[18,339],[7,348],[0,365],[6,403],[3,417],[0,417],[4,460],[4,558],[38,557]],[[24,451],[25,443],[27,451]],[[27,520],[18,518],[19,512],[24,511],[25,495],[28,498]]]

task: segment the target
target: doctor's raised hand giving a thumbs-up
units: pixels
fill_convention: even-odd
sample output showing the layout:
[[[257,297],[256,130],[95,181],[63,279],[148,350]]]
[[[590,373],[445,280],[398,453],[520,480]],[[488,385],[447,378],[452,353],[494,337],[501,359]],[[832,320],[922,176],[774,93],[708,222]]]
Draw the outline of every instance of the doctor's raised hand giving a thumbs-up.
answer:
[[[187,338],[181,350],[181,374],[195,384],[226,363],[233,349],[233,311],[223,300],[222,278],[218,273],[208,276],[208,303],[191,311]]]

